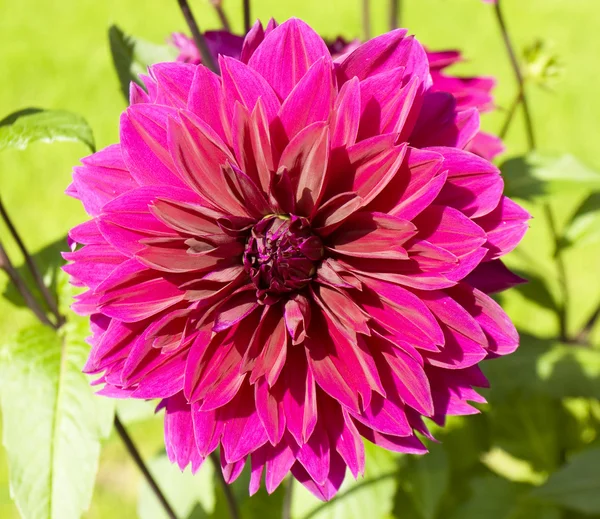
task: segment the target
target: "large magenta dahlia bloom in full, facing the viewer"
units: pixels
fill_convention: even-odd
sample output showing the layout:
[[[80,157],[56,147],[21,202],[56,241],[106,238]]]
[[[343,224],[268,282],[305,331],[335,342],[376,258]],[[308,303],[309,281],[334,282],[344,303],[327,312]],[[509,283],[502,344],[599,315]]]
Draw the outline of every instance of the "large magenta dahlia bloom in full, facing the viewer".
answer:
[[[219,449],[250,493],[291,471],[330,499],[364,439],[422,454],[424,417],[477,412],[479,362],[517,347],[487,293],[520,281],[499,258],[529,215],[405,30],[334,63],[304,22],[257,24],[219,68],[150,67],[75,168],[85,372],[161,399],[182,469]]]

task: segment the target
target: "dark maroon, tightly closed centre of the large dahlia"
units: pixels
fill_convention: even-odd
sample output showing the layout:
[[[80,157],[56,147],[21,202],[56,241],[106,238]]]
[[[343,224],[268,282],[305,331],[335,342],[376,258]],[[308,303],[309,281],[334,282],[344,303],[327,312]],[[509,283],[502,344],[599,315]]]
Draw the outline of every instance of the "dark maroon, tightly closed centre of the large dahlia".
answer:
[[[256,285],[258,300],[272,304],[281,294],[304,287],[322,257],[323,244],[306,218],[270,215],[252,228],[244,267]]]

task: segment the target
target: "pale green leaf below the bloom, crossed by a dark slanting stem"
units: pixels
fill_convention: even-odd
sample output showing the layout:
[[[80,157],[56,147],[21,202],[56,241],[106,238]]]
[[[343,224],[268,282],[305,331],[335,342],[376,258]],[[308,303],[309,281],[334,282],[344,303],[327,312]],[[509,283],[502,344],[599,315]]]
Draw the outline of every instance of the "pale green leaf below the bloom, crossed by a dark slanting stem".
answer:
[[[212,513],[215,507],[215,477],[210,460],[196,475],[189,468],[181,472],[164,454],[150,461],[149,468],[177,517],[189,517],[192,512],[193,517],[206,517]],[[138,516],[140,519],[168,519],[145,480],[139,494]]]

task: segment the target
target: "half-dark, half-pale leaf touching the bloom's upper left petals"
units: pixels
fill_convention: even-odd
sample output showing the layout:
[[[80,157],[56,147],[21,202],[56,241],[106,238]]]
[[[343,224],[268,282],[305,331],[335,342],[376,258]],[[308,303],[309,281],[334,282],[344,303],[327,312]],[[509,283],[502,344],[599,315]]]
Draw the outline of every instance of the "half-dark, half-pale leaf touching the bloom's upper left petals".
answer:
[[[121,92],[129,103],[129,85],[133,81],[143,87],[138,75],[145,74],[154,63],[173,61],[177,49],[168,45],[157,45],[125,34],[116,25],[108,29],[108,42],[113,64],[119,77]]]

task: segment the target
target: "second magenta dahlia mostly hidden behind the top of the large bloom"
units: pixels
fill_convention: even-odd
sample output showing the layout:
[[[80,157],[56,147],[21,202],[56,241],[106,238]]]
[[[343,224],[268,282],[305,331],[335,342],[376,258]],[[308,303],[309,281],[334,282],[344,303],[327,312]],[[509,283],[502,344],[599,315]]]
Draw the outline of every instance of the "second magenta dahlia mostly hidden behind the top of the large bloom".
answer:
[[[276,22],[271,20],[266,32],[268,33],[273,30],[276,25]],[[259,29],[259,26],[256,25],[252,29],[255,37],[258,36],[259,39],[263,37],[260,31],[262,31],[262,26]],[[240,57],[244,41],[241,36],[236,36],[225,31],[209,31],[205,33],[205,38],[215,58],[219,54],[234,58]],[[202,62],[200,52],[194,40],[185,34],[174,34],[172,36],[172,43],[179,49],[178,61],[195,64]],[[345,38],[338,37],[334,41],[327,42],[327,47],[334,60],[341,61],[345,55],[355,50],[360,44],[359,40],[348,41]],[[492,90],[496,86],[494,78],[447,75],[444,73],[444,69],[461,62],[463,60],[461,53],[455,50],[432,52],[427,49],[426,53],[429,59],[431,80],[433,81],[430,89],[431,92],[446,92],[453,95],[458,110],[477,108],[480,113],[493,110]],[[502,140],[495,135],[478,132],[468,144],[467,149],[481,157],[492,160],[504,151],[504,146]]]

